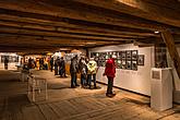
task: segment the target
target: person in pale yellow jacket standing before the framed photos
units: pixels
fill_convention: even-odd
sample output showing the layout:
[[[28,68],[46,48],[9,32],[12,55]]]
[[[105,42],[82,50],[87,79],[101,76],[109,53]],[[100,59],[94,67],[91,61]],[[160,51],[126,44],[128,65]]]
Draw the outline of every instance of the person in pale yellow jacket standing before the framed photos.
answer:
[[[96,72],[97,72],[97,63],[94,58],[91,58],[87,63],[87,80],[89,88],[92,88],[92,80],[94,82],[94,88],[96,88]]]

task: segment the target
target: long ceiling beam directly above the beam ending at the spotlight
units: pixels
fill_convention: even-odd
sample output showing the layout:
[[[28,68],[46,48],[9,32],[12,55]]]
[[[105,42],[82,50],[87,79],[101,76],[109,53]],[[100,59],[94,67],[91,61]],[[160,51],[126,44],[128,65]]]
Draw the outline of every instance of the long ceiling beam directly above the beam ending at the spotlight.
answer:
[[[92,13],[91,11],[74,11],[61,7],[46,7],[43,10],[37,10],[38,8],[32,9],[26,8],[22,10],[22,5],[13,4],[12,8],[9,8],[11,3],[1,3],[0,2],[0,14],[11,14],[11,15],[19,15],[21,17],[32,17],[32,19],[39,19],[39,20],[50,20],[50,21],[59,21],[65,23],[96,23],[96,24],[104,24],[104,25],[115,25],[115,26],[124,26],[131,28],[141,28],[141,29],[149,29],[149,31],[163,31],[165,29],[166,25],[153,23],[151,21],[145,21],[139,17],[128,17],[121,14],[108,14],[110,16],[104,15],[104,11],[100,11],[96,14]],[[9,8],[10,10],[8,10]],[[47,9],[48,8],[48,9]],[[49,10],[49,11],[47,11]],[[26,12],[25,12],[26,11]],[[168,27],[168,26],[167,26]]]

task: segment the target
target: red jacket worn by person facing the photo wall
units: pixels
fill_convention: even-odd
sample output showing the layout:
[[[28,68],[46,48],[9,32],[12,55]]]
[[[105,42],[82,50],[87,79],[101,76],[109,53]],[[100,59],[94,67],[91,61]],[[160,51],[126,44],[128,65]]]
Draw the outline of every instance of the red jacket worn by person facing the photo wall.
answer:
[[[106,62],[105,75],[115,77],[115,74],[116,74],[115,60],[112,58],[110,58]]]

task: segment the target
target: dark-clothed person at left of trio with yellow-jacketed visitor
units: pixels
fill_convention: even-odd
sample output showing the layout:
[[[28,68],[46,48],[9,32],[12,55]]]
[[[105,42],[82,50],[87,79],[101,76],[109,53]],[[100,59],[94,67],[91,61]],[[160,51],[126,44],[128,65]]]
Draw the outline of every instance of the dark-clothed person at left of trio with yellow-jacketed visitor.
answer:
[[[71,73],[71,88],[80,86],[76,82],[76,73],[79,71],[77,56],[71,59],[70,73]]]

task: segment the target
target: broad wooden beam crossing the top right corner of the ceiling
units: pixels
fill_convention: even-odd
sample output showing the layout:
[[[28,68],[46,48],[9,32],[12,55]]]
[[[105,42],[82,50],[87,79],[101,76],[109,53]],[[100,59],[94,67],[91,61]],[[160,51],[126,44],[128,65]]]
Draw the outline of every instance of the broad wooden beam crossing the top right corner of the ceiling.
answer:
[[[56,0],[53,0],[56,1]],[[178,0],[72,0],[180,27]],[[167,4],[165,4],[167,3]],[[171,7],[170,7],[171,5]],[[175,8],[176,5],[176,8]],[[133,12],[132,12],[133,11]]]

